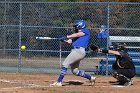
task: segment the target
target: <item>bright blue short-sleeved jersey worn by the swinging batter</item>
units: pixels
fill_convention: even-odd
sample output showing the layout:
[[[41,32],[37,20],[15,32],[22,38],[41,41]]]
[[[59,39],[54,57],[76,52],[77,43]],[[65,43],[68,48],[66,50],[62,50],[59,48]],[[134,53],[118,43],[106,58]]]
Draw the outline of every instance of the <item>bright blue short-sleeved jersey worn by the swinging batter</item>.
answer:
[[[85,33],[85,35],[77,38],[72,38],[72,45],[74,47],[87,48],[90,40],[90,31],[88,29],[82,29],[81,32]]]

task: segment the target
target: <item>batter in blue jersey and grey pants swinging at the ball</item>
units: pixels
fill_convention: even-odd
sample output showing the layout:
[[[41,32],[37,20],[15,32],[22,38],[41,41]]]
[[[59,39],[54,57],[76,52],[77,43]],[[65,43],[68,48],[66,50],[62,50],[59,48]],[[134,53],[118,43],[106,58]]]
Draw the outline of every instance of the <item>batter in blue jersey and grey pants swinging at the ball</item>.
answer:
[[[73,27],[75,29],[74,34],[60,38],[61,41],[72,44],[73,49],[62,64],[61,73],[57,81],[51,84],[51,86],[62,86],[62,80],[67,72],[68,66],[71,66],[71,71],[74,75],[87,78],[92,84],[95,83],[95,77],[79,70],[80,61],[86,55],[85,49],[89,43],[90,31],[86,28],[86,23],[83,20],[76,20]]]

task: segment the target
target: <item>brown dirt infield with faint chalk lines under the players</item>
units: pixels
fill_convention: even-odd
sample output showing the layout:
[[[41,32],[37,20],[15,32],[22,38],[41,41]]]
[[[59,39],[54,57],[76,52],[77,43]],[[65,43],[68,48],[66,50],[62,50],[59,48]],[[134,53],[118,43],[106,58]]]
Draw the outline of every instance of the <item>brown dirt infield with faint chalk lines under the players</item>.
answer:
[[[0,73],[0,93],[139,93],[140,78],[123,87],[110,76],[97,76],[95,86],[82,77],[66,75],[62,87],[49,86],[57,79],[53,74]]]

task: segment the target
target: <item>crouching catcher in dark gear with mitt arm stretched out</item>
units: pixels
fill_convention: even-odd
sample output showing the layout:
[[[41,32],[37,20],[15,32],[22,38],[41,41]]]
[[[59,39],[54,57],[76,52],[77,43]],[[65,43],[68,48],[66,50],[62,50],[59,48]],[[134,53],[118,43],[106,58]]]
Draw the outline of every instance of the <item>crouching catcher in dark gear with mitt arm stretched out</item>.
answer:
[[[90,48],[96,52],[114,54],[116,61],[112,65],[112,76],[116,78],[119,85],[133,85],[132,78],[135,76],[135,66],[128,53],[125,51],[125,44],[116,43],[114,50],[99,49],[98,46],[90,44]]]

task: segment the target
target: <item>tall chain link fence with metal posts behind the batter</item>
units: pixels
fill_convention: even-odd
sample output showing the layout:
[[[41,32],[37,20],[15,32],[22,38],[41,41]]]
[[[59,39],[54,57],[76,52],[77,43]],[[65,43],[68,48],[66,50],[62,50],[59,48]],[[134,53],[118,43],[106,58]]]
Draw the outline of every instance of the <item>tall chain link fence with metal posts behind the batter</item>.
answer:
[[[86,21],[91,31],[90,43],[97,45],[102,42],[98,40],[101,25],[106,26],[107,37],[101,43],[104,48],[113,43],[110,42],[110,36],[125,36],[126,39],[129,36],[139,37],[139,9],[140,3],[1,1],[0,71],[58,73],[72,47],[58,40],[36,40],[35,37],[71,34],[71,27],[77,19]],[[131,47],[128,49],[133,47],[132,51],[140,52],[140,42],[126,43]],[[27,49],[22,51],[21,45],[26,45]],[[97,72],[102,59],[108,60],[108,55],[87,49],[80,69]]]

